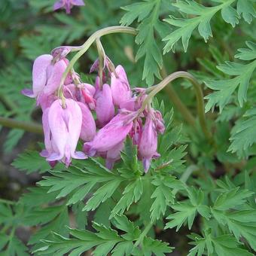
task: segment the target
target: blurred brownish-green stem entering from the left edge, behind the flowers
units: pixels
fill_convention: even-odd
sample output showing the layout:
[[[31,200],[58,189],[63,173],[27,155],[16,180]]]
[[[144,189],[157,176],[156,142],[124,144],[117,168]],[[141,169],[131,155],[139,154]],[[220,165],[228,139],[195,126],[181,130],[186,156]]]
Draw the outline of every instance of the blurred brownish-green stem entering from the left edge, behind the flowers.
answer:
[[[26,122],[23,122],[20,120],[14,120],[8,117],[0,117],[0,125],[6,126],[9,128],[24,130],[29,133],[38,133],[38,134],[43,133],[43,128],[38,123],[33,123],[33,122],[26,123]]]

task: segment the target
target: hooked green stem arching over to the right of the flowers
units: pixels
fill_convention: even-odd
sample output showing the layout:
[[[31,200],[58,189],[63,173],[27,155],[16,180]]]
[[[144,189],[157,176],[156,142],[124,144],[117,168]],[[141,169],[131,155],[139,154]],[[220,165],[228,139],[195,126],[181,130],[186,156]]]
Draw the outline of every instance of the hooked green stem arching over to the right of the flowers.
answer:
[[[183,71],[174,72],[168,77],[164,78],[163,81],[161,81],[159,84],[155,85],[154,87],[148,88],[147,91],[150,91],[150,93],[146,97],[145,101],[142,103],[142,108],[140,108],[139,112],[142,113],[142,111],[144,111],[144,109],[146,108],[146,105],[148,104],[148,102],[150,102],[151,99],[157,93],[160,92],[160,90],[163,90],[163,88],[166,87],[167,84],[169,84],[171,81],[174,81],[177,78],[186,78],[193,85],[196,96],[197,96],[197,114],[199,116],[200,126],[202,127],[203,133],[206,136],[206,138],[209,139],[209,141],[212,143],[212,134],[209,132],[206,124],[203,91],[201,89],[200,84],[197,82],[197,79],[194,78],[193,75],[190,75],[190,73],[188,72],[183,72]]]

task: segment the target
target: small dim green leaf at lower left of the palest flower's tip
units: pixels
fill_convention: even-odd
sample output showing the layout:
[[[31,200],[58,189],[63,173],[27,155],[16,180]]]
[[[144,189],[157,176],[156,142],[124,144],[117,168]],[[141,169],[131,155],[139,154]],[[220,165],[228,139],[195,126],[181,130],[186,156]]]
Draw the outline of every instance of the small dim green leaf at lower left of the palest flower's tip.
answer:
[[[12,166],[27,173],[44,173],[50,169],[49,163],[37,151],[26,151],[19,154],[12,163]]]

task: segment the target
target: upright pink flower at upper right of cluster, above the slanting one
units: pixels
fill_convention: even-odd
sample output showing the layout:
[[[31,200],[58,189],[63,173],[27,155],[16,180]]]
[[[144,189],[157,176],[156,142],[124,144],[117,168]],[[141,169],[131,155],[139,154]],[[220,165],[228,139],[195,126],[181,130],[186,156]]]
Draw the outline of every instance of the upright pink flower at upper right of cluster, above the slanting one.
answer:
[[[111,73],[111,93],[114,105],[118,107],[132,97],[126,72],[120,65],[115,69],[115,73]]]

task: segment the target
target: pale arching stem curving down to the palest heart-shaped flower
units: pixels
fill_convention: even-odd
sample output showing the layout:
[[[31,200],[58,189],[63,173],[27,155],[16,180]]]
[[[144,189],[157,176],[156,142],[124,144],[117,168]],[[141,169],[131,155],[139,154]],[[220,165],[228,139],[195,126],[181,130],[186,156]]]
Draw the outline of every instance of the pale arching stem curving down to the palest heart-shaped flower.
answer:
[[[90,38],[87,39],[87,41],[81,45],[81,47],[78,47],[79,50],[78,53],[75,54],[75,56],[71,59],[69,62],[69,66],[67,66],[65,72],[62,75],[62,79],[59,84],[59,90],[58,90],[58,96],[61,96],[61,91],[62,91],[62,86],[64,84],[64,81],[69,74],[69,72],[72,70],[73,66],[75,65],[75,62],[78,61],[78,59],[86,53],[86,51],[89,49],[89,47],[93,44],[93,42],[97,39],[100,38],[102,35],[108,35],[108,34],[113,34],[113,33],[128,33],[128,34],[133,34],[137,35],[137,30],[134,28],[131,28],[129,26],[109,26],[108,28],[105,29],[100,29],[96,32],[93,33],[93,35],[90,36]]]

